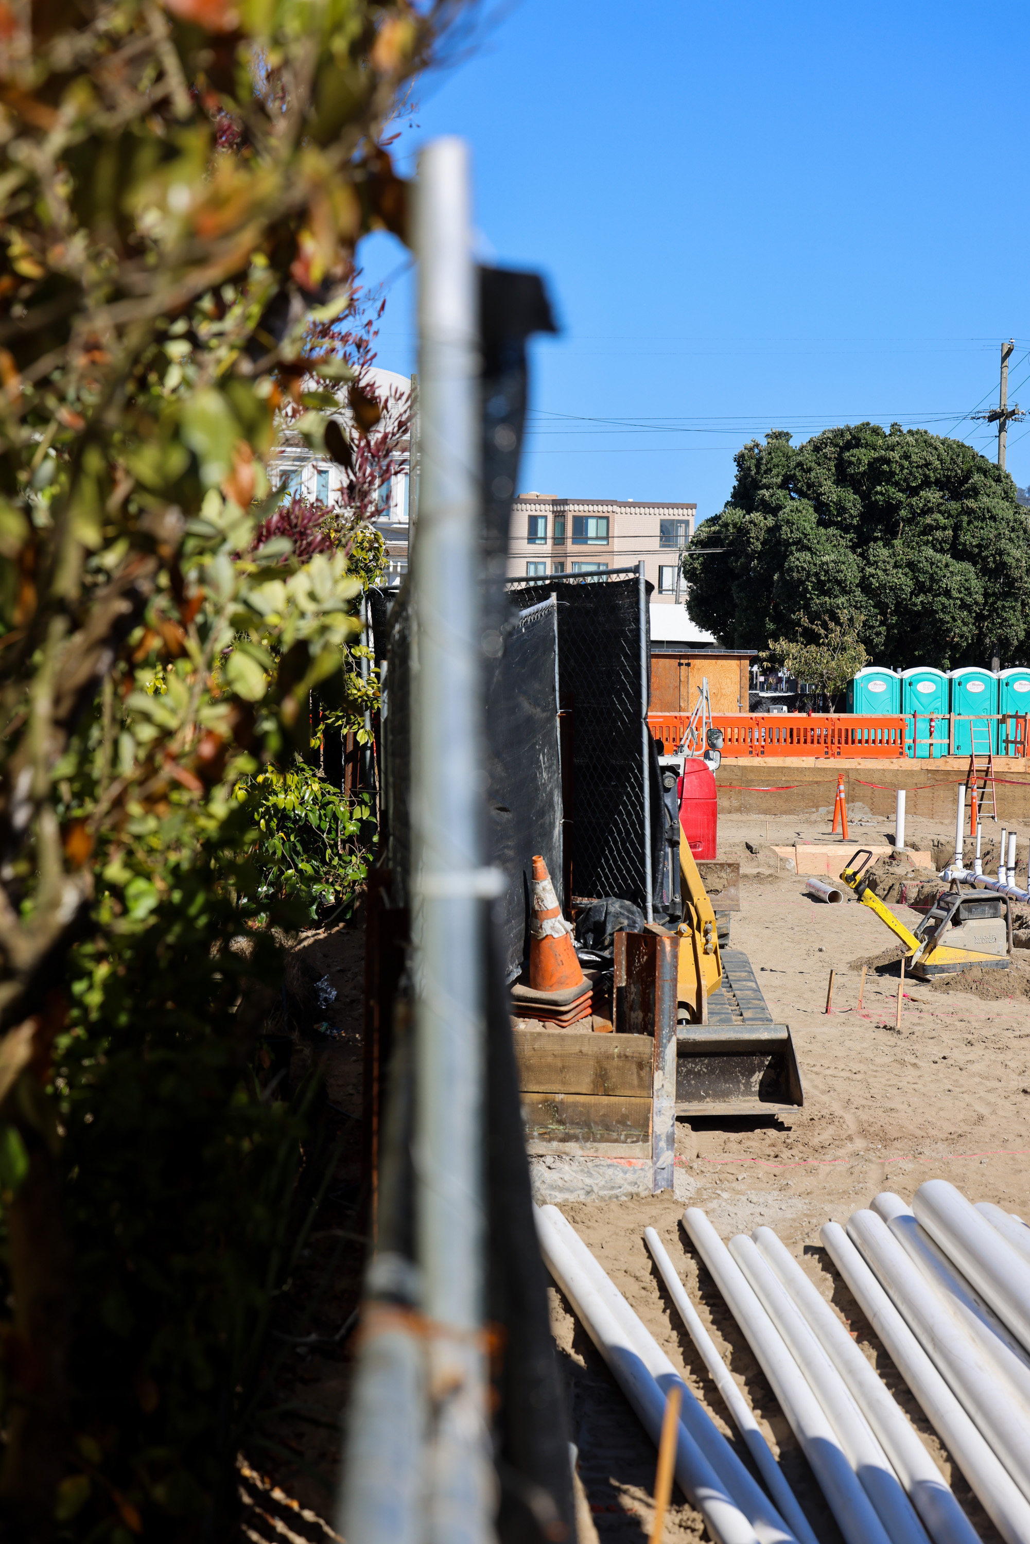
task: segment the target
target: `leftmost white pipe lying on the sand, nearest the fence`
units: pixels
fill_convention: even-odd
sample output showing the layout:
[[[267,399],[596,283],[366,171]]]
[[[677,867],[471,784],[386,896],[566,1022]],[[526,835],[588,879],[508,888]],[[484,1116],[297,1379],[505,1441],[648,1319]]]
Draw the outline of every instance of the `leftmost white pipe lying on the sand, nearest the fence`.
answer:
[[[661,1390],[639,1357],[625,1323],[616,1317],[605,1294],[598,1291],[584,1261],[568,1248],[562,1231],[548,1215],[554,1207],[537,1207],[536,1226],[544,1263],[571,1303],[576,1317],[612,1370],[619,1388],[639,1416],[639,1420],[658,1445],[666,1411],[667,1390]],[[561,1215],[561,1214],[559,1214]],[[678,1380],[683,1383],[683,1380]],[[684,1407],[690,1391],[683,1385]],[[684,1495],[704,1518],[709,1532],[718,1544],[757,1544],[758,1535],[740,1510],[737,1499],[715,1473],[706,1456],[690,1437],[683,1420],[676,1441],[676,1481]]]

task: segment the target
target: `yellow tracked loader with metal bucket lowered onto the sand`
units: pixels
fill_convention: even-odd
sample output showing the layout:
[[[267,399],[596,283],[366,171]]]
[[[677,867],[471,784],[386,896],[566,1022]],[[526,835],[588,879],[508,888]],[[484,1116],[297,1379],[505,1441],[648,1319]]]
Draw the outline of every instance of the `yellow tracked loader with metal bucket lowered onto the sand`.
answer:
[[[676,1115],[788,1115],[805,1104],[791,1027],[774,1024],[743,950],[720,948],[715,911],[679,840]]]

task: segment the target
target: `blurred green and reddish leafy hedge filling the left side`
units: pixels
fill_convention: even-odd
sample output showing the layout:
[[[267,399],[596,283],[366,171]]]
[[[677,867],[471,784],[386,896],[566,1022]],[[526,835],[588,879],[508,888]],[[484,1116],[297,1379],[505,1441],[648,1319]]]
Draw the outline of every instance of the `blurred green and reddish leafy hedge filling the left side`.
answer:
[[[385,125],[460,11],[0,0],[12,1538],[232,1524],[264,1329],[329,1172],[315,1095],[269,1096],[281,962],[256,913],[304,908],[259,896],[255,814],[292,797],[295,845],[341,862],[338,812],[290,780],[312,692],[349,710],[358,522],[400,438],[349,321],[354,244],[405,235]],[[329,542],[266,525],[280,435],[351,479]],[[238,798],[258,777],[267,797]]]

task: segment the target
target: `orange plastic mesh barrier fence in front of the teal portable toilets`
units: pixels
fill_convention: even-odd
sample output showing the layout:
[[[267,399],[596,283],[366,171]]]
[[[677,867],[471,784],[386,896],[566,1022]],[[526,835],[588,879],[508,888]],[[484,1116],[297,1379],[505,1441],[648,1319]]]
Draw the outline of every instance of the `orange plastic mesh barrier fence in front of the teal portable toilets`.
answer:
[[[723,730],[723,757],[868,757],[927,760],[954,753],[954,724],[961,713],[713,713],[712,727]],[[998,721],[1001,755],[1027,755],[1027,713],[979,715],[976,723]],[[930,723],[927,723],[927,720]],[[923,723],[920,723],[923,721]],[[690,724],[689,713],[649,713],[655,740],[672,755]],[[908,743],[906,743],[908,741]],[[704,746],[689,746],[695,755]]]

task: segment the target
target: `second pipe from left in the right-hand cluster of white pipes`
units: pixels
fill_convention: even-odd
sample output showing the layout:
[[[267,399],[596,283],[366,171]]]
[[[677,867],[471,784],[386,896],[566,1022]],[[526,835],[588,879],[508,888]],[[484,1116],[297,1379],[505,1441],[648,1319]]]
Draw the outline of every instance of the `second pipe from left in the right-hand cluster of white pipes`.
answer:
[[[985,1224],[988,1226],[988,1224]],[[854,1212],[848,1237],[866,1257],[923,1351],[948,1380],[1024,1496],[1030,1499],[1030,1436],[1022,1407],[991,1362],[908,1257],[882,1217]]]

